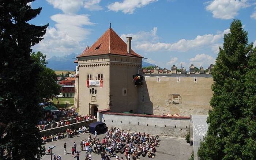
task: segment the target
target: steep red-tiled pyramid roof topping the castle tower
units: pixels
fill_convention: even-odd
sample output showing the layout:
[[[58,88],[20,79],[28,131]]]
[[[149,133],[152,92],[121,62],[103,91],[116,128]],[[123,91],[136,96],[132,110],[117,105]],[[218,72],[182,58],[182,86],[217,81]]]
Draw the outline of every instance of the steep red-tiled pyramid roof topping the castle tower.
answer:
[[[97,56],[102,54],[117,54],[121,56],[140,57],[139,54],[131,50],[131,54],[127,52],[126,43],[109,28],[86,52],[83,52],[77,57]]]

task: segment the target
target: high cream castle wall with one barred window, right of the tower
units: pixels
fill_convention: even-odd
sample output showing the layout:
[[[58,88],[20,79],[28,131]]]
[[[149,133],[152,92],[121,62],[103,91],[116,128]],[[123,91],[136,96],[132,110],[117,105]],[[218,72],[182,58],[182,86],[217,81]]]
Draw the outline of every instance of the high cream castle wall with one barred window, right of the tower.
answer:
[[[163,113],[180,114],[208,114],[210,99],[213,92],[211,75],[177,76],[157,75],[145,76],[143,87],[138,89],[138,113],[162,115]],[[197,83],[194,78],[197,78]],[[172,103],[172,94],[180,94],[179,104]]]

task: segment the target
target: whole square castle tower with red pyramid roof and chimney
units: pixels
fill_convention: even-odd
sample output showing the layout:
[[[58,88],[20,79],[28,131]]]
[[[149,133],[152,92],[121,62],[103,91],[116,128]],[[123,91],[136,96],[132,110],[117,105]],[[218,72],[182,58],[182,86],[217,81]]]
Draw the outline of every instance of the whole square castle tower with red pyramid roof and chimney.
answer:
[[[95,115],[97,110],[136,112],[137,87],[133,76],[142,56],[109,28],[88,50],[77,56],[79,66],[79,114]]]

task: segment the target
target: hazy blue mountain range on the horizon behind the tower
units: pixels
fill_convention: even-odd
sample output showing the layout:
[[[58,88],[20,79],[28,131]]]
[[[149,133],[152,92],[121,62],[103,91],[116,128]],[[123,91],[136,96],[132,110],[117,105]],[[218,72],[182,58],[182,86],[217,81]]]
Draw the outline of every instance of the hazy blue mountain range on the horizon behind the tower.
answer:
[[[76,69],[76,65],[74,63],[75,61],[75,57],[77,56],[77,54],[75,53],[71,53],[67,56],[63,56],[63,57],[57,57],[57,56],[53,56],[52,58],[49,58],[47,60],[48,64],[47,67],[53,69],[53,70],[68,70],[68,71],[74,71]],[[150,64],[148,62],[144,62],[142,61],[142,67],[147,67],[147,66],[155,66],[154,64]]]

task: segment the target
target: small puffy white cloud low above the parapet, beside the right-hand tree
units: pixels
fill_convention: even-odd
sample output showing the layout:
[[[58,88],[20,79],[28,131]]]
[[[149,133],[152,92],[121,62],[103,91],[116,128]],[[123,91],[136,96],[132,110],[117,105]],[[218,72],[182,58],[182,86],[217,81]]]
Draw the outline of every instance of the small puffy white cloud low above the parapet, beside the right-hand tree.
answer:
[[[196,66],[197,68],[200,68],[201,66],[207,67],[210,66],[210,64],[215,64],[215,59],[212,56],[204,53],[196,54],[196,56],[190,58],[189,61],[190,64],[194,64],[194,66]]]

